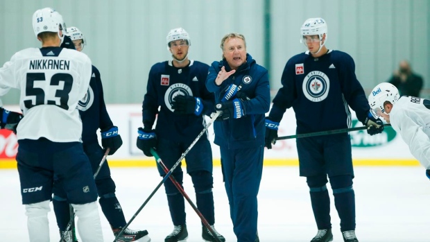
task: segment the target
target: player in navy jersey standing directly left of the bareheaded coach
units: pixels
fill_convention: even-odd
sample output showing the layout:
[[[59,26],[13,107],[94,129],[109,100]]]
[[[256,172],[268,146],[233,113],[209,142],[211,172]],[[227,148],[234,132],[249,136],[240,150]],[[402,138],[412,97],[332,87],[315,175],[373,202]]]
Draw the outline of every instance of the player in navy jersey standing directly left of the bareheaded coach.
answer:
[[[209,66],[188,58],[191,40],[187,31],[183,28],[172,29],[166,42],[173,60],[154,64],[150,69],[142,110],[144,128],[138,130],[137,147],[149,157],[153,156],[150,148],[154,148],[170,169],[205,128],[204,115],[214,112],[214,95],[205,87]],[[153,129],[156,116],[157,123]],[[196,191],[198,210],[216,232],[212,149],[206,134],[189,150],[185,162]],[[166,175],[160,166],[158,170],[160,175]],[[182,186],[180,165],[172,175]],[[164,241],[182,241],[188,236],[184,198],[171,180],[164,182],[164,188],[174,225],[173,232]],[[203,227],[202,236],[205,241],[215,241],[206,227]],[[218,232],[216,236],[225,241]]]

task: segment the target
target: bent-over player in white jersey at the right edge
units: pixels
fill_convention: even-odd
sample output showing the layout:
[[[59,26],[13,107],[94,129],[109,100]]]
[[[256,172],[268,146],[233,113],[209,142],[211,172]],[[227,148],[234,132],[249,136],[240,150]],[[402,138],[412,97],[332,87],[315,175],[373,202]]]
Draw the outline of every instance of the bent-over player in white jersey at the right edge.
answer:
[[[399,96],[390,83],[380,83],[368,98],[374,116],[383,117],[400,134],[430,179],[430,100]]]

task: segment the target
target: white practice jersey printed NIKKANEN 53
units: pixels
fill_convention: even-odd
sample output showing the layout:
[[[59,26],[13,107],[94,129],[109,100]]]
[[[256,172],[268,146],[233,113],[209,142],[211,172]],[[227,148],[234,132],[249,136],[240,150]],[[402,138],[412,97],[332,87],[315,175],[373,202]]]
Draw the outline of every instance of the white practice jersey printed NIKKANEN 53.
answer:
[[[76,105],[87,92],[91,66],[84,53],[60,47],[15,53],[0,69],[0,96],[10,87],[21,90],[24,118],[17,128],[18,139],[80,141],[82,123]]]

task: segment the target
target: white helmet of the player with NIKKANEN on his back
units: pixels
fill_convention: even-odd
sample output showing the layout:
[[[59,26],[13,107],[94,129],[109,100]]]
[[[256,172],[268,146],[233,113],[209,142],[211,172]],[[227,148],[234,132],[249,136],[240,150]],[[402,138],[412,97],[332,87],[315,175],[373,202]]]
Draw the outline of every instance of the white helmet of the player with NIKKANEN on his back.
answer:
[[[58,33],[58,37],[62,42],[64,33],[60,35],[60,31],[66,31],[66,24],[62,20],[62,16],[53,8],[42,8],[36,10],[33,14],[33,31],[35,35],[42,32]]]

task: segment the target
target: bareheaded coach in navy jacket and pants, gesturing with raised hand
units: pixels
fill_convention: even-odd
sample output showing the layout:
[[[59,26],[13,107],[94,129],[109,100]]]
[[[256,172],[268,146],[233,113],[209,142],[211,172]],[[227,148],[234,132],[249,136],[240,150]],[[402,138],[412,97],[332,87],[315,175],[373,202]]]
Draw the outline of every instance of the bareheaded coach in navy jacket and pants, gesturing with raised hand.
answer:
[[[245,37],[221,39],[223,60],[212,62],[206,79],[214,92],[215,141],[220,147],[225,191],[238,242],[258,242],[257,194],[263,173],[264,114],[270,107],[268,71],[246,52]]]

